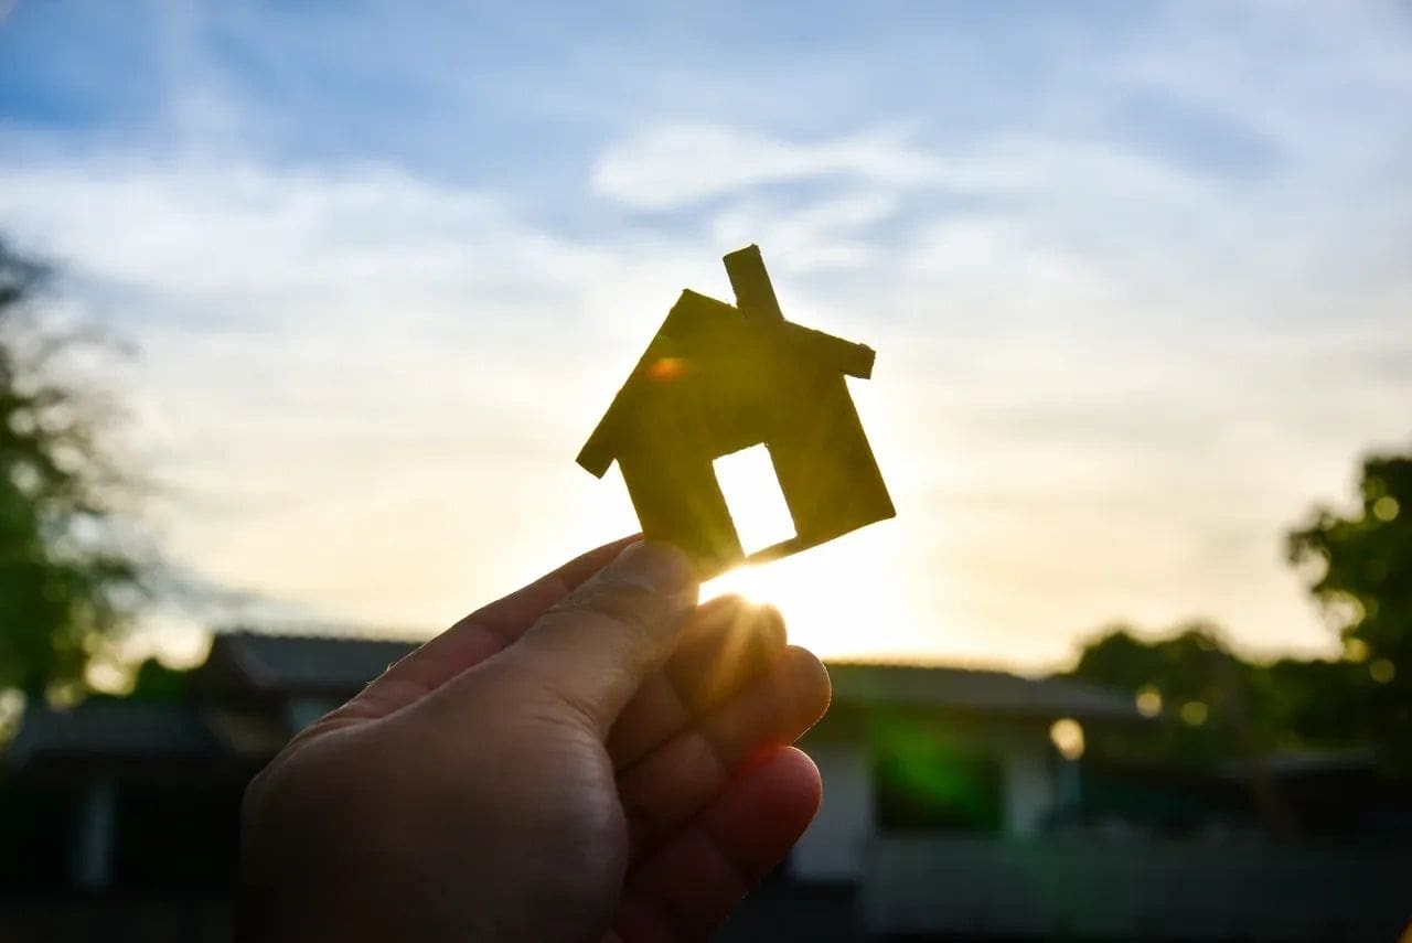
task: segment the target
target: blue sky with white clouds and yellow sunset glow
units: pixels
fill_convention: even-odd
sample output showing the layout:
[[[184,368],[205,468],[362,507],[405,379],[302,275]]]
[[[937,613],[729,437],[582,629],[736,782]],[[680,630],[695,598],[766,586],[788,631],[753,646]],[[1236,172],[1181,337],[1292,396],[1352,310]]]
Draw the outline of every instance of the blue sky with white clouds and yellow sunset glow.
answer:
[[[729,577],[825,655],[1332,654],[1412,436],[1408,3],[0,0],[0,232],[137,353],[161,611],[428,634],[635,529],[579,446],[758,243],[892,521]],[[713,587],[719,591],[720,587]]]

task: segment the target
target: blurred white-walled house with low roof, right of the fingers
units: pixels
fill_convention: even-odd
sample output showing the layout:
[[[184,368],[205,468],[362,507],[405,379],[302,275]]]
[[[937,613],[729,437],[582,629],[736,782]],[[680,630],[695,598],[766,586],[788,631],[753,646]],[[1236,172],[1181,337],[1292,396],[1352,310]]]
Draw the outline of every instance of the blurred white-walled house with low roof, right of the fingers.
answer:
[[[809,881],[858,881],[890,833],[1031,836],[1073,779],[1051,727],[1142,721],[1131,699],[1069,680],[847,662],[829,675],[833,704],[805,741],[827,788],[791,858]]]

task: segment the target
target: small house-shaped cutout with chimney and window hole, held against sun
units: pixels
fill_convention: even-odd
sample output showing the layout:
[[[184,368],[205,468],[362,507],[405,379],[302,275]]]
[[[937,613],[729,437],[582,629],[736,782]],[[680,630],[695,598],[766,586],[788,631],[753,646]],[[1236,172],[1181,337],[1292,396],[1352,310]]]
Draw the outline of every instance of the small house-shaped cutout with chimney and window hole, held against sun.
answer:
[[[597,477],[618,463],[642,535],[703,579],[897,514],[844,380],[873,374],[873,350],[785,320],[757,246],[724,261],[736,304],[683,291],[579,452]],[[712,463],[757,445],[795,535],[747,558]]]

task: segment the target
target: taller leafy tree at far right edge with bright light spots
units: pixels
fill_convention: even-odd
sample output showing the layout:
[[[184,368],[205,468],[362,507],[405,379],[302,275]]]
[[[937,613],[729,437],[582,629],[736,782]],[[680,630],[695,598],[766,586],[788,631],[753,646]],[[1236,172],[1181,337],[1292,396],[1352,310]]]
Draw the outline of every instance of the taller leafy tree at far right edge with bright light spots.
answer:
[[[1347,515],[1316,508],[1289,559],[1343,634],[1368,731],[1412,772],[1412,455],[1365,459],[1360,498]]]

